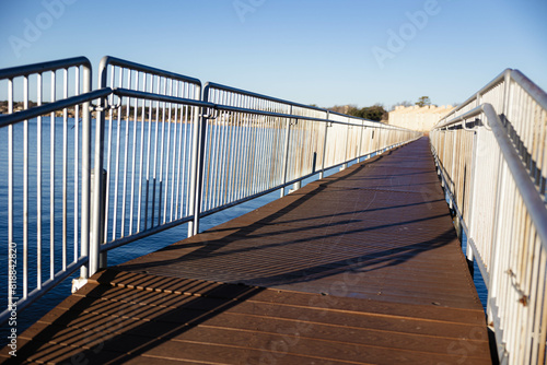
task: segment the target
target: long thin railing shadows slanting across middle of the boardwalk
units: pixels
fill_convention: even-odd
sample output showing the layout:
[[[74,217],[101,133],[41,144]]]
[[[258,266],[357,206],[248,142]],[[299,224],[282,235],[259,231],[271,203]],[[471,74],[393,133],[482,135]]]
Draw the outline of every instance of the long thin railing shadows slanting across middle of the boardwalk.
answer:
[[[365,232],[372,232],[375,229],[383,229],[383,228],[395,228],[397,226],[405,226],[414,223],[420,223],[420,222],[426,222],[428,220],[434,220],[434,219],[440,219],[445,216],[446,214],[437,214],[437,215],[430,215],[426,219],[410,219],[410,220],[405,220],[400,221],[397,223],[392,223],[392,224],[381,224],[381,225],[375,225],[371,227],[362,227],[358,229],[342,229],[339,232],[334,232],[329,234],[317,234],[317,235],[309,235],[306,236],[306,232],[313,232],[314,229],[321,229],[321,228],[327,228],[327,227],[333,227],[333,226],[345,226],[345,225],[350,225],[354,223],[361,222],[359,219],[352,219],[352,216],[348,216],[347,220],[342,221],[337,221],[337,222],[329,222],[328,224],[313,224],[313,220],[318,220],[321,221],[322,219],[328,217],[327,215],[318,215],[318,216],[313,216],[313,217],[291,217],[290,220],[283,220],[283,216],[288,215],[290,212],[294,211],[309,200],[313,199],[315,196],[321,193],[322,191],[325,191],[327,188],[331,187],[334,184],[340,181],[340,180],[347,180],[348,178],[354,177],[357,174],[359,174],[362,169],[366,168],[368,164],[370,162],[379,162],[381,161],[384,156],[387,156],[392,154],[395,151],[392,151],[389,153],[386,153],[385,155],[379,156],[377,158],[371,160],[369,162],[365,162],[358,167],[352,168],[351,172],[344,174],[340,177],[330,177],[330,178],[325,178],[321,181],[314,181],[311,182],[311,185],[315,185],[311,191],[304,191],[304,192],[294,192],[293,196],[300,196],[289,203],[288,205],[281,208],[280,210],[277,210],[272,212],[271,214],[261,217],[260,220],[256,221],[252,225],[241,225],[241,226],[230,226],[228,228],[224,227],[219,227],[219,228],[211,228],[206,232],[206,234],[220,234],[221,237],[219,238],[213,238],[213,239],[200,239],[202,235],[195,236],[190,239],[183,240],[181,243],[167,246],[165,248],[162,248],[159,250],[159,252],[173,252],[173,256],[176,256],[177,252],[176,250],[178,249],[187,249],[187,248],[195,248],[195,250],[191,251],[191,255],[182,255],[178,257],[173,257],[172,259],[159,259],[159,260],[150,260],[147,262],[137,262],[137,263],[125,263],[121,264],[123,270],[128,270],[128,271],[147,271],[148,269],[151,268],[161,268],[170,264],[179,264],[184,262],[190,262],[195,260],[199,260],[203,257],[207,258],[218,258],[218,257],[229,257],[231,255],[237,255],[237,254],[244,254],[244,252],[251,252],[251,251],[259,251],[259,250],[265,250],[265,249],[270,249],[270,248],[280,248],[280,247],[290,247],[293,245],[298,244],[305,244],[305,243],[311,243],[317,239],[330,239],[330,240],[336,240],[336,238],[341,238],[344,235],[348,234],[359,234],[359,233],[365,233]],[[441,193],[441,189],[439,189],[439,193]],[[426,198],[426,197],[423,197]],[[388,208],[379,208],[379,209],[365,209],[365,210],[357,210],[352,212],[342,212],[341,214],[337,215],[347,215],[347,214],[358,214],[358,213],[363,213],[363,212],[373,212],[373,211],[385,211],[387,213],[388,210],[393,209],[398,209],[398,208],[407,208],[407,207],[417,207],[417,205],[428,205],[431,203],[439,203],[444,201],[444,199],[435,199],[434,197],[430,196],[427,197],[429,200],[424,200],[423,202],[419,203],[410,203],[410,204],[398,204],[398,205],[393,205]],[[447,208],[446,208],[447,211]],[[281,220],[281,221],[279,221]],[[296,223],[296,222],[310,222],[307,225],[304,227],[298,226],[298,227],[290,227],[286,229],[280,229],[276,232],[268,232],[268,233],[259,233],[257,234],[256,231],[259,229],[259,227],[263,227],[265,225],[270,225],[270,224],[278,224],[278,223]],[[225,233],[226,235],[223,235]],[[223,248],[229,247],[232,243],[235,243],[237,240],[241,240],[243,238],[265,238],[265,239],[271,239],[275,240],[276,237],[281,237],[281,236],[287,236],[291,237],[290,235],[295,235],[295,238],[290,238],[288,240],[282,240],[282,242],[272,242],[270,244],[264,244],[259,246],[252,246],[252,247],[242,247],[242,248],[234,248],[234,249],[225,249],[222,250]],[[304,237],[302,237],[304,236]],[[325,276],[330,276],[335,275],[338,273],[344,273],[345,271],[351,270],[351,271],[357,271],[360,270],[362,271],[365,269],[363,272],[366,271],[373,271],[377,270],[382,267],[392,267],[392,266],[398,266],[400,263],[404,263],[408,261],[409,259],[416,257],[420,252],[423,252],[424,250],[430,250],[430,249],[435,249],[442,246],[445,246],[453,242],[454,239],[457,239],[455,231],[453,228],[443,232],[442,234],[438,235],[434,238],[431,239],[426,239],[423,242],[420,242],[418,244],[412,244],[408,246],[400,246],[397,248],[388,248],[384,250],[379,250],[377,247],[373,247],[372,249],[368,249],[366,247],[363,247],[363,254],[362,255],[357,255],[353,257],[349,258],[344,258],[344,259],[334,259],[328,262],[317,262],[316,266],[310,266],[305,268],[304,270],[300,269],[294,271],[293,268],[291,268],[291,261],[288,260],[286,261],[286,267],[281,266],[276,266],[276,272],[279,272],[279,270],[284,270],[281,274],[276,274],[276,275],[259,275],[253,279],[246,279],[245,283],[246,284],[256,284],[256,285],[264,285],[265,282],[268,283],[268,285],[282,285],[282,284],[288,284],[288,283],[295,283],[295,282],[306,282],[306,281],[312,281],[312,280],[317,280],[319,278],[325,278]],[[163,256],[165,257],[165,256]],[[374,266],[374,268],[372,268]],[[335,269],[333,269],[335,268]],[[369,268],[369,269],[366,269]],[[266,271],[266,272],[265,272]],[[306,275],[303,274],[303,272],[314,272],[313,275]],[[267,273],[267,270],[263,270],[261,272]],[[298,276],[298,279],[290,279],[288,280],[287,276]]]

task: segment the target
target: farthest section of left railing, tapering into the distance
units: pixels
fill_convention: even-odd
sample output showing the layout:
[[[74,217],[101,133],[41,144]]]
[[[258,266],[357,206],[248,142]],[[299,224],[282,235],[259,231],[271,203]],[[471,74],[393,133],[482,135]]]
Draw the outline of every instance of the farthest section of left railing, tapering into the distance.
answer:
[[[200,216],[421,136],[214,83],[203,101]]]

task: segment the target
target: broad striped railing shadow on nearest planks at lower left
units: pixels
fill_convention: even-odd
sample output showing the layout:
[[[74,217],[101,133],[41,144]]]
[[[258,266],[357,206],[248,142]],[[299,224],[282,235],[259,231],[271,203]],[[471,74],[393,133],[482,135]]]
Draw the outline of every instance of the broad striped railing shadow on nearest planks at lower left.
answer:
[[[116,272],[107,270],[97,275],[100,275],[98,282],[104,282],[106,285],[98,285],[88,296],[78,301],[71,306],[72,309],[63,313],[44,330],[36,333],[30,342],[18,350],[18,356],[11,357],[5,364],[26,363],[31,356],[32,360],[47,363],[126,363],[264,291],[256,286],[209,283],[214,287],[201,292],[200,296],[181,295],[190,299],[167,311],[164,311],[165,307],[152,308],[160,314],[149,315],[147,317],[149,321],[135,326],[135,318],[142,317],[142,306],[131,305],[131,298],[114,304],[104,302],[102,296],[113,289],[107,283],[112,276],[116,275]],[[234,291],[235,286],[238,286],[238,290]],[[216,295],[216,293],[226,291],[231,291],[233,297]],[[220,303],[212,306],[210,303],[205,303],[210,298]],[[127,304],[127,310],[124,310],[125,304]],[[116,310],[114,319],[95,319],[88,325],[80,325],[81,327],[78,327],[78,323],[74,327],[66,327],[88,310],[108,313],[108,309]],[[147,309],[150,308],[147,307]],[[161,327],[161,331],[158,327]],[[154,333],[158,334],[154,337]]]

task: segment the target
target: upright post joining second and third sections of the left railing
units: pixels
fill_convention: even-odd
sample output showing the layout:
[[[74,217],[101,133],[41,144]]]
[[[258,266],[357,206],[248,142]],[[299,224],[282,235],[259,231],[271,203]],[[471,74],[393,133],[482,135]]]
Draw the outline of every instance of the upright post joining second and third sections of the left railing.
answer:
[[[202,102],[209,101],[209,84],[206,84],[201,95]],[[199,233],[199,215],[201,213],[201,200],[203,188],[203,163],[205,163],[205,138],[207,130],[207,120],[209,117],[209,108],[199,108],[200,115],[194,116],[194,134],[193,134],[193,151],[191,151],[191,177],[190,177],[190,196],[189,208],[190,215],[194,220],[188,222],[188,237]]]

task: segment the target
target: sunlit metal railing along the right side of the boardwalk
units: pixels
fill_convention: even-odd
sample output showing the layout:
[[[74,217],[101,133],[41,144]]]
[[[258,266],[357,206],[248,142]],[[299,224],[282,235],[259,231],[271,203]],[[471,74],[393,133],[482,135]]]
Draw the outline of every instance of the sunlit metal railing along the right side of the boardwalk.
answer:
[[[543,364],[547,333],[547,94],[505,70],[431,131],[468,260],[488,289],[501,363]]]

